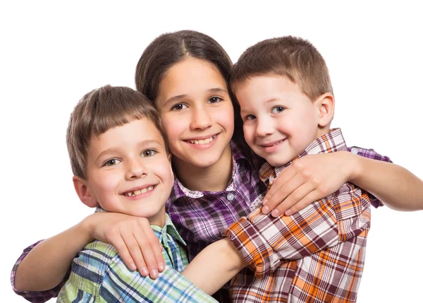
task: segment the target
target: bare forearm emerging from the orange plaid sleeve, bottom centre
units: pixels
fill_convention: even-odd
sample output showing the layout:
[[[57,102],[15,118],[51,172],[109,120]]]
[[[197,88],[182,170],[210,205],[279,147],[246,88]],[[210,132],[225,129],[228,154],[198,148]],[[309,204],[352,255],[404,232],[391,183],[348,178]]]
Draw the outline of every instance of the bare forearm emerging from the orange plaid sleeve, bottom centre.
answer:
[[[212,295],[245,266],[247,263],[243,256],[225,238],[203,249],[182,274],[208,295]]]

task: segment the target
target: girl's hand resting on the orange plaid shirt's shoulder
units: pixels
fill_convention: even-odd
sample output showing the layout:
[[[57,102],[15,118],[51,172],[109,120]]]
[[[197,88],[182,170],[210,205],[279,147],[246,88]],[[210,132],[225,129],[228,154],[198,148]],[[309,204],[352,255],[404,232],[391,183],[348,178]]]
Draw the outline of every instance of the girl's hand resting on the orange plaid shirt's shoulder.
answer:
[[[351,155],[336,152],[306,155],[295,160],[274,180],[263,199],[263,213],[271,211],[274,217],[283,213],[292,215],[314,201],[333,194],[353,174]]]

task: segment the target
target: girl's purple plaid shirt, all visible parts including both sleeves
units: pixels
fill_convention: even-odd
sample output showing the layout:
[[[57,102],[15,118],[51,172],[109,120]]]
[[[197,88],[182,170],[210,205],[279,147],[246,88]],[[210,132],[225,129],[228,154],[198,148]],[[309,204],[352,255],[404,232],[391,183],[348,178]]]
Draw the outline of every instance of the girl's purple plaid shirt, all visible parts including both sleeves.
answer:
[[[261,203],[266,193],[266,185],[260,181],[259,167],[262,160],[254,155],[247,158],[245,153],[234,143],[231,143],[233,155],[233,178],[226,191],[190,191],[185,190],[182,184],[176,180],[171,197],[166,204],[166,210],[171,216],[177,230],[187,242],[188,259],[192,260],[208,244],[222,239],[227,227],[233,222],[249,214],[255,203]],[[388,161],[389,158],[379,155],[374,150],[352,147],[348,148],[352,153],[363,157]],[[185,190],[185,191],[184,191]],[[233,200],[229,201],[228,194],[233,194]],[[374,202],[373,202],[374,201]],[[379,206],[379,200],[372,200],[374,206]],[[28,246],[19,257],[11,272],[11,284],[14,285],[16,269],[25,256],[39,242]],[[13,290],[20,296],[33,303],[47,302],[51,297],[56,297],[59,290],[66,282],[51,290],[42,292],[20,292],[14,287]],[[230,302],[226,295],[219,295],[220,302]]]

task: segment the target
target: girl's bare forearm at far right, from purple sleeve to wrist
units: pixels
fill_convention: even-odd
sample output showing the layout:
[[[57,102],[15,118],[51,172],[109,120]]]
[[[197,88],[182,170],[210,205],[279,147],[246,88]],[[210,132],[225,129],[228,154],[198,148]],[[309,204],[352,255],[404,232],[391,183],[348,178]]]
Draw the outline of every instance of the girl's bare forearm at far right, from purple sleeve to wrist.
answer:
[[[353,155],[355,172],[350,182],[395,210],[423,209],[423,181],[398,165]]]

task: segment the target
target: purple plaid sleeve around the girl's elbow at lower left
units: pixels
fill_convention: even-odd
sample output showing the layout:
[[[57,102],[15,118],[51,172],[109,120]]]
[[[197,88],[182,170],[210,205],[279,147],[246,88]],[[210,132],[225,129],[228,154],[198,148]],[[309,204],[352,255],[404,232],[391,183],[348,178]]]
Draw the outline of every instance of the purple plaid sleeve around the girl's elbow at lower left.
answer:
[[[43,302],[49,301],[49,299],[51,299],[52,297],[57,297],[57,294],[59,293],[61,287],[65,284],[65,281],[68,279],[69,273],[71,271],[71,269],[69,269],[68,273],[66,273],[66,276],[65,276],[65,278],[63,278],[61,283],[59,283],[59,285],[52,288],[51,290],[43,290],[43,291],[40,291],[40,292],[35,292],[35,291],[30,292],[30,291],[16,290],[16,288],[15,288],[15,275],[16,275],[16,271],[18,270],[18,266],[19,266],[20,262],[22,262],[22,260],[25,259],[27,254],[29,254],[30,251],[35,246],[37,246],[37,244],[39,244],[40,242],[42,242],[42,240],[35,242],[34,244],[32,244],[30,246],[27,246],[27,248],[23,250],[23,253],[20,255],[19,259],[16,261],[15,265],[12,268],[12,272],[11,272],[11,285],[12,285],[13,291],[16,292],[17,295],[20,295],[24,299],[27,299],[27,301],[33,302],[33,303],[43,303]]]

